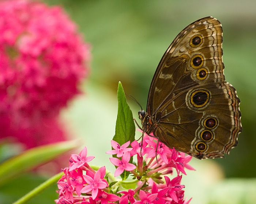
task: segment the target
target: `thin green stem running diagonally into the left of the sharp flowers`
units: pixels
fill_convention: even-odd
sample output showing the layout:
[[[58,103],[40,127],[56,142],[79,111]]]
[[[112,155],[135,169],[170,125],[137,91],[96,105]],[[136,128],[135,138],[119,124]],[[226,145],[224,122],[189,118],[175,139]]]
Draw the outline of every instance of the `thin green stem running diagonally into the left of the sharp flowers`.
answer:
[[[59,181],[59,179],[61,178],[61,176],[63,175],[63,172],[60,172],[56,175],[54,175],[53,177],[49,178],[47,181],[45,181],[44,183],[40,184],[38,187],[34,188],[32,191],[30,191],[29,193],[27,193],[25,196],[21,197],[19,200],[17,200],[16,202],[14,202],[13,204],[23,204],[23,203],[27,203],[28,200],[30,200],[31,198],[33,198],[34,196],[36,196],[38,193],[40,193],[41,191],[43,191],[44,189],[48,188],[49,186],[56,184],[57,181]]]

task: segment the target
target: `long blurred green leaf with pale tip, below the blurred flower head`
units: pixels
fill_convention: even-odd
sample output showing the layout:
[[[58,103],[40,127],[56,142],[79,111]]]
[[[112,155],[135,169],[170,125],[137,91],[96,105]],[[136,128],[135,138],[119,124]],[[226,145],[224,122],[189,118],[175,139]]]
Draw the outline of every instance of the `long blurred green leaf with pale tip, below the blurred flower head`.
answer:
[[[0,185],[10,181],[11,178],[18,176],[20,173],[51,161],[77,146],[77,141],[65,141],[39,146],[3,162],[0,165]]]

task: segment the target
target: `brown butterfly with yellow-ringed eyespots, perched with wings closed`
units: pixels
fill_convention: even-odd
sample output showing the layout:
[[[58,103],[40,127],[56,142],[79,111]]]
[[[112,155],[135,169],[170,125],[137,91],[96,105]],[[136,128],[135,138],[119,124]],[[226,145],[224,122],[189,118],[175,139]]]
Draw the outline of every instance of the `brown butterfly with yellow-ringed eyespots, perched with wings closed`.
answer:
[[[199,159],[228,154],[242,126],[223,70],[221,23],[205,17],[184,28],[158,64],[146,112],[139,111],[143,133]]]

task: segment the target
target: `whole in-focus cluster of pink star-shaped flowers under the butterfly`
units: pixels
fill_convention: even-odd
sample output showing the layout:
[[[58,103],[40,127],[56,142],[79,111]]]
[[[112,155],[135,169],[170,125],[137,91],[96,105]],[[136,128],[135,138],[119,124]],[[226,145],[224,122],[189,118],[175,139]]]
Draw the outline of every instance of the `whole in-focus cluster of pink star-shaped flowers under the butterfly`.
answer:
[[[142,142],[130,141],[119,145],[111,141],[113,150],[106,153],[116,154],[110,162],[117,166],[114,176],[131,174],[129,185],[136,185],[135,189],[127,189],[126,179],[113,180],[105,167],[95,172],[87,162],[94,157],[87,157],[84,148],[79,155],[72,154],[69,168],[64,169],[64,176],[58,182],[59,199],[57,204],[188,204],[191,199],[184,200],[184,185],[181,178],[186,174],[185,168],[194,170],[188,162],[191,156],[185,156],[175,149],[167,148],[155,138],[144,135]],[[157,151],[156,151],[157,150]],[[156,154],[158,161],[156,160]],[[131,163],[131,157],[137,156],[137,162]],[[177,176],[170,179],[167,174],[173,174],[176,169]],[[83,172],[86,172],[83,174]],[[162,180],[164,178],[164,180]]]

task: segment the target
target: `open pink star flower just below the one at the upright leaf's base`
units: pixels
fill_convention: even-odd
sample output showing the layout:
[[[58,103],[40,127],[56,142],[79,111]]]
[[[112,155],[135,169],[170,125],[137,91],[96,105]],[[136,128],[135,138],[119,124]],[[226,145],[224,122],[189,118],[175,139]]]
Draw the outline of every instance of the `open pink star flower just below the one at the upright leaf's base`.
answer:
[[[131,155],[129,152],[125,152],[121,160],[114,157],[109,158],[112,164],[114,164],[115,166],[118,166],[114,173],[114,176],[119,176],[124,172],[124,170],[131,171],[136,169],[136,166],[134,164],[129,163],[130,158],[131,158]]]

